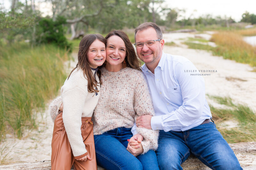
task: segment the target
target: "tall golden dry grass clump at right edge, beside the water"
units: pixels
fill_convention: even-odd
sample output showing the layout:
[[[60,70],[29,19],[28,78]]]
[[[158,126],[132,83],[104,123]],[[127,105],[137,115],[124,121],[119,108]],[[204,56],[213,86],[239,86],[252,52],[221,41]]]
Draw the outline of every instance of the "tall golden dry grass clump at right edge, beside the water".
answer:
[[[256,66],[256,47],[247,44],[243,36],[235,32],[219,32],[212,35],[210,41],[218,47],[212,49],[214,55]]]

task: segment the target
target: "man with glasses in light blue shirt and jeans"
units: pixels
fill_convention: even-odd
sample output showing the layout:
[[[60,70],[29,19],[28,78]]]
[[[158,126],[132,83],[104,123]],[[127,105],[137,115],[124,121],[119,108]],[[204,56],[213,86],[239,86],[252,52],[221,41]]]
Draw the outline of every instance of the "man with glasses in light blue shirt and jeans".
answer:
[[[204,79],[188,74],[187,70],[197,70],[188,59],[163,52],[162,36],[154,23],[135,30],[137,55],[145,62],[142,71],[156,113],[138,117],[136,125],[160,130],[156,151],[160,169],[182,169],[191,153],[211,169],[242,169],[211,119]],[[132,139],[142,140],[134,129]],[[131,145],[127,150],[135,154]]]

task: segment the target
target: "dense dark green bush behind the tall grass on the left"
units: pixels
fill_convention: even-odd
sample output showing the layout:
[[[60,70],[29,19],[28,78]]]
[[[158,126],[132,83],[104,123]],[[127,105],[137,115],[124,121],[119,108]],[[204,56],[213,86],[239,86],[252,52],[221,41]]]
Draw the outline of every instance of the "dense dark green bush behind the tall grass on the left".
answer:
[[[64,17],[57,17],[56,21],[52,18],[41,18],[36,29],[36,43],[49,44],[53,43],[60,48],[70,49],[71,44],[68,43],[64,35],[63,24],[66,24]]]

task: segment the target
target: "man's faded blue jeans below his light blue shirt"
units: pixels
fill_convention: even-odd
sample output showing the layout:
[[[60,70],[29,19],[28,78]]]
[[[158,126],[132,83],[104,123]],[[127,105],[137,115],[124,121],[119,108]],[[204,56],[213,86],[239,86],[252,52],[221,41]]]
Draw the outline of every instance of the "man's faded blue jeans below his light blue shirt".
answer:
[[[190,153],[211,169],[242,169],[213,122],[183,132],[160,130],[156,155],[161,170],[182,169],[180,165]]]

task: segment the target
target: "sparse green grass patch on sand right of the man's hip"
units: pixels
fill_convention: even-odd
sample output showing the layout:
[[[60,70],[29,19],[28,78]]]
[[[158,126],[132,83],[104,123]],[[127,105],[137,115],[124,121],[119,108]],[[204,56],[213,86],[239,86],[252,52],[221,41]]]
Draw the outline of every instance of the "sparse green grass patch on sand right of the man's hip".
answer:
[[[256,141],[256,115],[249,107],[241,104],[234,104],[230,98],[221,98],[217,96],[210,96],[210,98],[228,107],[227,109],[223,109],[215,108],[210,105],[212,119],[217,124],[217,128],[218,124],[226,120],[233,119],[239,122],[236,128],[218,128],[228,143]]]

